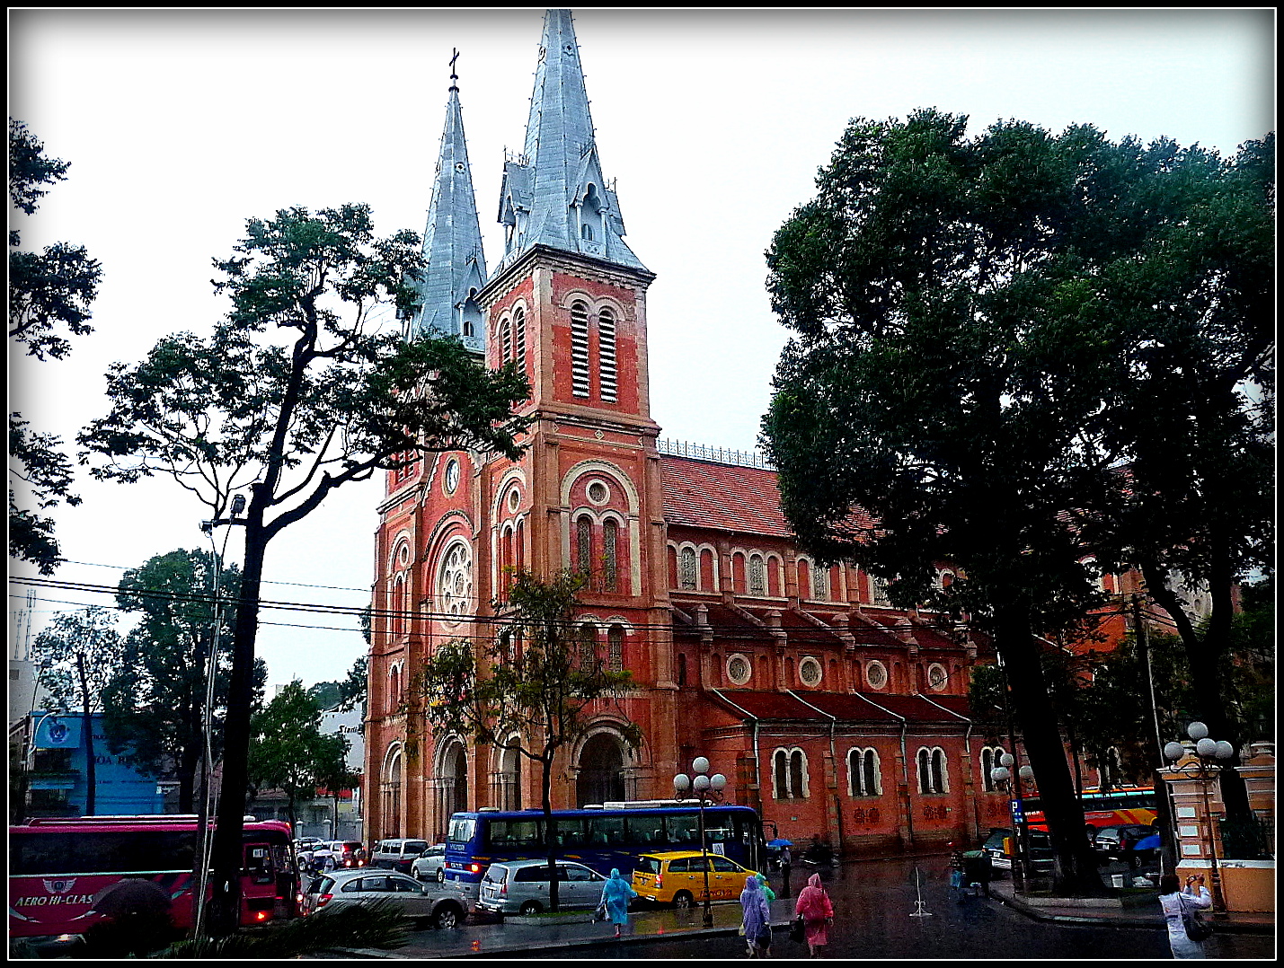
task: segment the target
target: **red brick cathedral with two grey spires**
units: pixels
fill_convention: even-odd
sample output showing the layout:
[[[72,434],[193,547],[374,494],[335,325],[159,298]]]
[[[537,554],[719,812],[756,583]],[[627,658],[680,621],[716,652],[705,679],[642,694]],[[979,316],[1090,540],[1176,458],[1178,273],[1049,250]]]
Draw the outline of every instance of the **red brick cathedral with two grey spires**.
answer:
[[[456,334],[488,366],[516,359],[535,422],[517,462],[455,452],[389,475],[375,607],[413,619],[374,625],[367,836],[440,840],[456,810],[539,806],[539,775],[516,754],[426,724],[407,746],[398,715],[435,644],[493,634],[484,619],[510,566],[589,570],[582,647],[636,679],[559,763],[555,808],[669,797],[674,774],[706,756],[728,800],[795,843],[882,852],[1003,825],[996,747],[967,714],[977,646],[889,607],[851,565],[818,567],[760,460],[660,445],[654,275],[623,239],[566,10],[544,21],[499,221],[505,254],[488,272],[452,86],[408,331]],[[636,751],[628,722],[645,736]]]

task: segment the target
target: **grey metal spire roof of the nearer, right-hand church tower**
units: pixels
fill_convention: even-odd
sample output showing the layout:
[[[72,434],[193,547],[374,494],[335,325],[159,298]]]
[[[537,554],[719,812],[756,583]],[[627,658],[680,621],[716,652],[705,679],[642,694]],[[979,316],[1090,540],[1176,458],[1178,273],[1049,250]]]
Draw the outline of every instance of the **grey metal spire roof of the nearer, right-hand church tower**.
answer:
[[[525,151],[505,160],[499,222],[501,268],[548,245],[646,271],[624,244],[615,186],[602,177],[570,10],[544,14]]]

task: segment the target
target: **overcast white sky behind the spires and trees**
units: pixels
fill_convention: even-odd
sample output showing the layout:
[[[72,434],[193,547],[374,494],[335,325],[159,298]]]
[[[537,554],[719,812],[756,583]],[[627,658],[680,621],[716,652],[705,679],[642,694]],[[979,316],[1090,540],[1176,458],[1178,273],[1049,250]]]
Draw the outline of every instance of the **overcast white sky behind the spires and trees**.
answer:
[[[584,10],[575,14],[607,178],[628,241],[657,273],[648,304],[652,413],[664,436],[752,448],[786,335],[763,252],[806,202],[853,117],[921,107],[972,131],[1018,118],[1054,132],[1167,135],[1222,154],[1275,126],[1271,9]],[[506,10],[9,10],[10,116],[72,163],[24,248],[101,261],[91,336],[71,359],[10,357],[10,410],[73,438],[105,410],[103,374],[222,312],[211,259],[244,221],[366,202],[376,226],[422,231],[448,60],[460,91],[488,263],[501,246],[505,146],[520,148],[542,8]],[[80,487],[60,508],[58,578],[203,547],[203,507],[168,480]],[[361,606],[381,484],[334,496],[270,548],[266,598]],[[230,552],[239,556],[236,537]],[[15,574],[33,574],[14,566]],[[326,585],[331,588],[321,588]],[[349,589],[349,591],[339,591]],[[26,589],[10,584],[10,614]],[[110,596],[37,593],[33,630]],[[64,602],[69,602],[67,605]],[[270,682],[343,678],[365,650],[351,619],[265,612]],[[10,625],[21,646],[24,627]]]

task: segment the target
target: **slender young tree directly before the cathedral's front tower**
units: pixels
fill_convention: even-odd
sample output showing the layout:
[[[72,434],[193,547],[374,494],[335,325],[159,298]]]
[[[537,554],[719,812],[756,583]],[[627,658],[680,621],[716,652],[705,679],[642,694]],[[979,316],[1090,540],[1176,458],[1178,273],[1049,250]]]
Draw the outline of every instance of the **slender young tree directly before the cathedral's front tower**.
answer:
[[[455,639],[439,646],[406,704],[408,710],[421,707],[438,734],[458,733],[515,750],[539,766],[552,910],[559,903],[553,761],[584,734],[597,704],[619,696],[633,682],[628,670],[612,671],[600,657],[580,653],[575,618],[587,580],[583,573],[566,571],[547,582],[529,571],[516,573],[507,600],[492,606],[499,628],[493,642]],[[415,719],[408,716],[408,722]],[[641,746],[636,724],[629,724],[625,741]]]

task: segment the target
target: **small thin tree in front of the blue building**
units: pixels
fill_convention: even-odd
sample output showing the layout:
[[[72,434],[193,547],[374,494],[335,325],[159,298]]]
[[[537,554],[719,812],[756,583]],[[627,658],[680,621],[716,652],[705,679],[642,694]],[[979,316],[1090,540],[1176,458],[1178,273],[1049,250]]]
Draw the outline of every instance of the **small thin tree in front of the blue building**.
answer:
[[[109,609],[58,612],[36,637],[33,657],[54,675],[46,688],[59,709],[80,705],[85,734],[85,814],[96,813],[98,772],[94,764],[94,714],[103,709],[103,693],[121,661],[123,646]],[[78,701],[78,702],[77,702]]]

